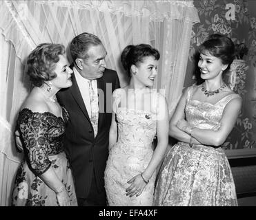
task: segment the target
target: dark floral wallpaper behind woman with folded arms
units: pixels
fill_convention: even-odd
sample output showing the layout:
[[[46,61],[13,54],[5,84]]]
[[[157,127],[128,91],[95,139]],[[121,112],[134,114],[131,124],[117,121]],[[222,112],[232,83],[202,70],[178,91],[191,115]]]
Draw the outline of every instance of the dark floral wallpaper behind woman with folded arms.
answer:
[[[256,148],[256,1],[195,0],[194,4],[201,22],[193,27],[184,86],[201,83],[197,78],[195,55],[197,47],[210,34],[224,34],[235,45],[242,45],[242,48],[237,47],[241,50],[237,50],[237,59],[225,80],[233,91],[242,96],[243,107],[224,148]]]

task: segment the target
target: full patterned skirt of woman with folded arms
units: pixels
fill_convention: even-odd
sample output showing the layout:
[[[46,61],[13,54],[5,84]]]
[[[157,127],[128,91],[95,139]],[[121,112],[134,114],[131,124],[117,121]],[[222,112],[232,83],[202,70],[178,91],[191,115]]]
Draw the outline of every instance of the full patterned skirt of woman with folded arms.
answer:
[[[222,148],[178,142],[161,166],[155,206],[237,206],[235,184]]]

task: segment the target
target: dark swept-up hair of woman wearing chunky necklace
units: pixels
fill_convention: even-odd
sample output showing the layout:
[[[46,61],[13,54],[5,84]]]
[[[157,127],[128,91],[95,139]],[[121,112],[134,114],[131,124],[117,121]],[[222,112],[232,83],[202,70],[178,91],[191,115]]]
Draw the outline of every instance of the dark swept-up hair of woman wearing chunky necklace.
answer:
[[[210,54],[221,59],[221,62],[228,67],[224,72],[228,72],[231,63],[235,59],[235,45],[233,41],[221,34],[212,34],[204,43],[199,46],[200,54]]]

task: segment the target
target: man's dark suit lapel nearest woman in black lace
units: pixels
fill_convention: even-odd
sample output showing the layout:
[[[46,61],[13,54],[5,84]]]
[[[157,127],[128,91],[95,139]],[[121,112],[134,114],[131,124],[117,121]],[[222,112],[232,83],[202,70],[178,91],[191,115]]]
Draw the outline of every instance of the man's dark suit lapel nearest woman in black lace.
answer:
[[[70,87],[71,94],[72,94],[74,100],[77,102],[77,105],[79,106],[79,108],[81,109],[83,114],[86,116],[87,120],[90,122],[88,111],[86,109],[86,105],[83,102],[81,92],[80,92],[79,87],[77,85],[77,80],[75,78],[75,74],[72,74],[72,83],[73,83],[73,85]]]

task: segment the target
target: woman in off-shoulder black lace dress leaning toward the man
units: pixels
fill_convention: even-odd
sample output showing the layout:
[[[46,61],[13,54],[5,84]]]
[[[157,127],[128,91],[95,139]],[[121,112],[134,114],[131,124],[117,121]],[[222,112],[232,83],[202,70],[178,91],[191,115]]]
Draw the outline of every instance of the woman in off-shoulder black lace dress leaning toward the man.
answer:
[[[43,43],[28,56],[28,75],[35,87],[17,119],[24,159],[14,182],[12,206],[77,206],[61,141],[68,112],[55,98],[59,89],[72,85],[64,54],[63,45]]]

